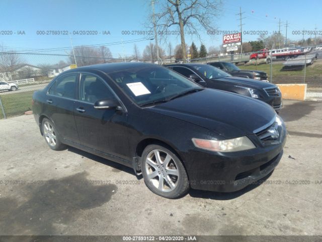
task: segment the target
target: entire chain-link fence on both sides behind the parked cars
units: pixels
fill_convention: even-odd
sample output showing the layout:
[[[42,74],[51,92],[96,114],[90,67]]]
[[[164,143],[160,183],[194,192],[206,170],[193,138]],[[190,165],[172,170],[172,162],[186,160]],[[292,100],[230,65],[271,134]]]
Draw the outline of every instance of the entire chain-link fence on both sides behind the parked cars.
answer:
[[[251,60],[251,53],[227,54],[191,59],[190,62],[230,62],[241,70],[263,71],[267,73],[268,81],[274,84],[305,83],[309,91],[322,92],[322,60],[318,58],[319,51],[322,54],[322,50],[312,50],[297,57],[266,56]],[[125,60],[67,54],[0,52],[0,119],[31,110],[34,91],[43,89],[55,76],[69,70],[75,61],[77,66],[88,66]]]

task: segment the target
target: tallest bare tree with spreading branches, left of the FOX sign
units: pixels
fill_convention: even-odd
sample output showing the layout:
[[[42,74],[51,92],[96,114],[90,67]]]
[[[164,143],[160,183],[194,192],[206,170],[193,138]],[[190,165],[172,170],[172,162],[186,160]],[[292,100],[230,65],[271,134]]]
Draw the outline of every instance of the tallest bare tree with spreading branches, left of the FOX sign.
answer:
[[[180,30],[182,56],[187,61],[185,31],[195,33],[200,39],[197,26],[214,31],[213,18],[218,14],[220,0],[167,0],[160,5],[157,26],[161,33],[173,26]]]

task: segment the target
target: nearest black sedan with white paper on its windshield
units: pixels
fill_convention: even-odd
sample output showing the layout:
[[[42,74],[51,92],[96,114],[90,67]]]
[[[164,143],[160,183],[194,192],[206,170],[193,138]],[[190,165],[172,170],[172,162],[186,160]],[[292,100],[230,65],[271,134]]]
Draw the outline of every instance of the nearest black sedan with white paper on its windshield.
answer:
[[[53,150],[65,145],[132,167],[154,193],[240,190],[269,174],[286,130],[266,103],[203,88],[144,63],[68,70],[33,95]]]

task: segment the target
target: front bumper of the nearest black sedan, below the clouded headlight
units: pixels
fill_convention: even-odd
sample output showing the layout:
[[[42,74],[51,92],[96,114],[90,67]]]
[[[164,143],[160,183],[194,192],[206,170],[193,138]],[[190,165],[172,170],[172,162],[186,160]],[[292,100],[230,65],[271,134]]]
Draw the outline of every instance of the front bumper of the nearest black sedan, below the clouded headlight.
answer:
[[[190,151],[190,158],[185,158],[192,163],[187,167],[190,186],[214,192],[241,190],[274,170],[283,155],[285,142],[284,132],[281,143],[270,147],[221,154]]]

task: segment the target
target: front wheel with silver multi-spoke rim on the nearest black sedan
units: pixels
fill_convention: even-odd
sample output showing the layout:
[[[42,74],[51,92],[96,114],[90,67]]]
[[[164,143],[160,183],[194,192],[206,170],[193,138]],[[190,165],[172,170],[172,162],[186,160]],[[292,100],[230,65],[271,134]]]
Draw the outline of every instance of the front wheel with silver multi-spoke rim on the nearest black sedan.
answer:
[[[142,154],[144,183],[153,193],[178,198],[189,190],[189,179],[178,156],[160,145],[148,145]]]

